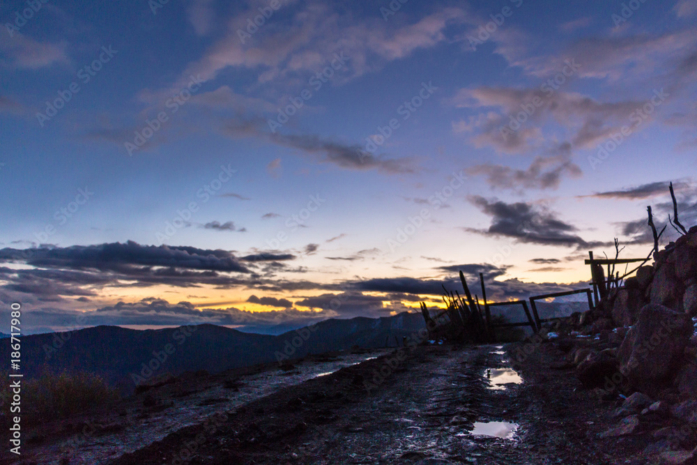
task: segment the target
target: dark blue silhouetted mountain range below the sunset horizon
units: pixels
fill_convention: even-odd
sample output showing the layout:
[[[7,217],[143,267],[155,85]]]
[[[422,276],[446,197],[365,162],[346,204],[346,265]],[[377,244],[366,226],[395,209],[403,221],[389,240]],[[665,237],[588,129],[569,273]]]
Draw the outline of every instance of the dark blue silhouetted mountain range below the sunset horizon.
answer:
[[[95,326],[24,336],[22,369],[27,377],[45,370],[93,372],[130,392],[135,387],[132,374],[141,375],[144,365],[156,367],[153,376],[199,369],[220,372],[275,362],[279,354],[292,359],[352,346],[376,348],[388,342],[396,346],[397,340],[423,327],[421,314],[406,312],[379,319],[330,319],[281,335],[242,333],[210,324],[160,330]],[[9,359],[9,352],[9,344],[0,344],[2,360]]]

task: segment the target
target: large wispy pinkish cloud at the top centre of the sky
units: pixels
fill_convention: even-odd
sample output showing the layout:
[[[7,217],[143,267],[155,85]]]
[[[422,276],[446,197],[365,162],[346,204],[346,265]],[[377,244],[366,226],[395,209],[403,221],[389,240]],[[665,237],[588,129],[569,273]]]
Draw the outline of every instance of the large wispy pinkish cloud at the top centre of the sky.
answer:
[[[344,76],[356,77],[444,42],[447,26],[466,19],[457,8],[445,8],[413,24],[383,22],[382,18],[351,21],[351,15],[319,1],[284,8],[284,17],[274,17],[274,27],[261,28],[248,38],[240,38],[238,30],[245,31],[247,19],[259,15],[259,10],[254,4],[240,11],[229,22],[227,34],[187,67],[183,79],[194,74],[209,80],[226,68],[237,68],[261,70],[259,82],[268,82],[314,74],[342,52],[348,57]]]

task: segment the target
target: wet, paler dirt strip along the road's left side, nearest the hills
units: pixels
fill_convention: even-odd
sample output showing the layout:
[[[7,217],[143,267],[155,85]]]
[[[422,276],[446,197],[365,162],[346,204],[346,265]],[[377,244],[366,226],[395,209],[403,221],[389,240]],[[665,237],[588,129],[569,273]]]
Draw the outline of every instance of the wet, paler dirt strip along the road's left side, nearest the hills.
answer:
[[[389,353],[390,349],[325,353],[295,365],[277,363],[166,376],[155,387],[89,414],[24,427],[20,460],[0,455],[0,464],[103,464],[134,452],[201,418],[248,404],[343,367]]]

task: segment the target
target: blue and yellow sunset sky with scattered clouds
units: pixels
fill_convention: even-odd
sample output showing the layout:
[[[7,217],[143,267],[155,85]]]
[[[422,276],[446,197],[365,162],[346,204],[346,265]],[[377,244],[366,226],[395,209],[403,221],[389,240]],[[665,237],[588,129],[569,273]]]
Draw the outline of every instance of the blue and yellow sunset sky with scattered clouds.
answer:
[[[25,333],[299,326],[588,286],[697,223],[697,1],[6,1]],[[666,227],[662,243],[677,233]]]

